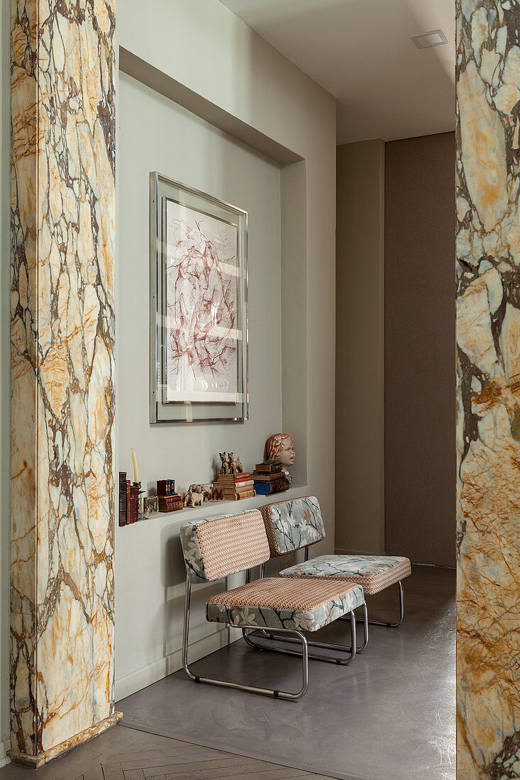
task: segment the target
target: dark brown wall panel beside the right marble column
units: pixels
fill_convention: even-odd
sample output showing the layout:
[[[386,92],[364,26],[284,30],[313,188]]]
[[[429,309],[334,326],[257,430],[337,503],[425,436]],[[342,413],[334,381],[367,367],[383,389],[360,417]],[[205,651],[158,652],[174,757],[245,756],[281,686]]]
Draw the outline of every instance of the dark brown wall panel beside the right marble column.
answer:
[[[455,564],[454,133],[386,144],[385,540]]]

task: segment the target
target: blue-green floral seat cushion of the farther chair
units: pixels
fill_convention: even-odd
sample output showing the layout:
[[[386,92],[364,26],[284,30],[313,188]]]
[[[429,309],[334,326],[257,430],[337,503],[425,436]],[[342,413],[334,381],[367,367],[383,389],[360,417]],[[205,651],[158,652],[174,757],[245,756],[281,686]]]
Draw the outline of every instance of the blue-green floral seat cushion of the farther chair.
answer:
[[[362,585],[365,594],[404,580],[411,574],[408,558],[393,555],[319,555],[312,561],[297,563],[283,569],[280,577],[322,577],[324,580],[343,580]]]

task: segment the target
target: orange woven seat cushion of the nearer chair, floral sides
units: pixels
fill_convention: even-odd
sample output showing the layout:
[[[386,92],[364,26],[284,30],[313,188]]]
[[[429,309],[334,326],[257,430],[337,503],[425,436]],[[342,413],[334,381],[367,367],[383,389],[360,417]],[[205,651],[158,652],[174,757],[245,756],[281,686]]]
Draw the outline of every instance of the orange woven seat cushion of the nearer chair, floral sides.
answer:
[[[206,617],[237,627],[317,631],[364,602],[354,583],[268,577],[213,596]]]

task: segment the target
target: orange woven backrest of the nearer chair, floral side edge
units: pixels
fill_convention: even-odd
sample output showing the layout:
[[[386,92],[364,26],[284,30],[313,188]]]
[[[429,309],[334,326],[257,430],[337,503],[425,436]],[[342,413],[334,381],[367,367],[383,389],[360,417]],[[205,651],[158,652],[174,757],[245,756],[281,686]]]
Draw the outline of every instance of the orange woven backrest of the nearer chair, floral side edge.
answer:
[[[269,560],[269,541],[258,509],[184,523],[180,543],[192,583],[218,580]]]

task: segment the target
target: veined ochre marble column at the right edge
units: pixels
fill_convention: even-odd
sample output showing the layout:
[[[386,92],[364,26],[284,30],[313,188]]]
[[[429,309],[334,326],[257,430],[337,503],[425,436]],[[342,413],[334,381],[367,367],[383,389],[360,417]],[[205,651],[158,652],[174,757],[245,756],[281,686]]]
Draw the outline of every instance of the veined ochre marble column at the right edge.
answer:
[[[520,5],[457,0],[458,778],[520,777]]]

